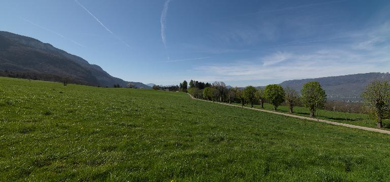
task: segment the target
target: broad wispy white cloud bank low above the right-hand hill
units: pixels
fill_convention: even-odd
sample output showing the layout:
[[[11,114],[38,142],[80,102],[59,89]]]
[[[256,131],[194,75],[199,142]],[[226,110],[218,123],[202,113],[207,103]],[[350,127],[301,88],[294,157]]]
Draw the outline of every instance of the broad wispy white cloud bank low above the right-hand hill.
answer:
[[[365,72],[387,72],[390,69],[390,24],[354,33],[357,37],[328,48],[285,50],[253,59],[233,60],[224,64],[204,64],[194,68],[202,74],[198,80],[220,80],[259,85],[280,83],[291,79],[318,78]],[[245,86],[245,85],[238,85]]]

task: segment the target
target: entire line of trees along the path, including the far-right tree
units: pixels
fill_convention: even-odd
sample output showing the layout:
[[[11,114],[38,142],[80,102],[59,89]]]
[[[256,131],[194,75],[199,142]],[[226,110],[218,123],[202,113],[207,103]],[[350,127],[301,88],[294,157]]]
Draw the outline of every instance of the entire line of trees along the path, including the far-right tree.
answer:
[[[198,83],[198,84],[195,84]],[[180,90],[188,92],[193,97],[219,102],[241,103],[242,106],[259,103],[264,108],[264,103],[273,105],[274,111],[281,104],[288,106],[289,113],[293,114],[293,108],[297,105],[305,106],[310,111],[310,117],[315,116],[315,112],[326,107],[327,94],[322,89],[319,82],[311,81],[303,85],[301,94],[290,87],[283,88],[277,84],[267,85],[264,88],[247,86],[244,89],[238,87],[228,88],[223,82],[206,83],[204,87],[199,87],[197,81],[191,80],[189,88],[187,82],[180,84]],[[383,119],[390,118],[390,85],[388,81],[373,81],[362,93],[365,99],[365,111],[377,122],[377,127],[382,127]],[[328,105],[329,107],[329,105]],[[335,107],[333,108],[335,110]],[[359,108],[362,110],[361,108]],[[355,110],[358,110],[357,106]],[[348,110],[349,112],[349,110]]]

